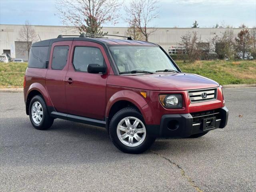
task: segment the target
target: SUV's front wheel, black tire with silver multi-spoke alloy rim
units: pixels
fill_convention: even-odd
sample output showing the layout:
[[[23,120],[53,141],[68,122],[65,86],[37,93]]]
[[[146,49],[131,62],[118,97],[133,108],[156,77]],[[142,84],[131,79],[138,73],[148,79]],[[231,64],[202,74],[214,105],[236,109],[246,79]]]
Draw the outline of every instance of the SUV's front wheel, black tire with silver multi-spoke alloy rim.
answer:
[[[109,124],[109,135],[119,150],[131,154],[140,154],[146,151],[156,139],[147,134],[144,118],[135,107],[123,108],[112,117]],[[121,139],[121,136],[124,136],[124,139]]]

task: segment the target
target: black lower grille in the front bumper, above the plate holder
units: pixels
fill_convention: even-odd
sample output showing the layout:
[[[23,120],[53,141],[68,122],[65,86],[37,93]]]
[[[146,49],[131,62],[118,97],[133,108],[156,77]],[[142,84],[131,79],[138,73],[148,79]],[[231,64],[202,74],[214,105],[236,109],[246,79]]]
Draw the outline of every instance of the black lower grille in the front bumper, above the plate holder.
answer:
[[[203,119],[210,118],[210,117],[216,117],[216,120],[220,119],[220,109],[200,111],[200,112],[194,112],[190,114],[193,117],[193,124],[201,123]]]

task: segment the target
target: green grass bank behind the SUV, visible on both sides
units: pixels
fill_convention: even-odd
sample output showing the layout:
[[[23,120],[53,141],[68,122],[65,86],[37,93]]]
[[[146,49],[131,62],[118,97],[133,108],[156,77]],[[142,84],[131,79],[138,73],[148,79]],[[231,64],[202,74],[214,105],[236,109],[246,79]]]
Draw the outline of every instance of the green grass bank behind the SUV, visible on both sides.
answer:
[[[199,74],[226,84],[256,84],[256,60],[176,61],[182,72]],[[0,88],[22,88],[27,63],[0,62]]]

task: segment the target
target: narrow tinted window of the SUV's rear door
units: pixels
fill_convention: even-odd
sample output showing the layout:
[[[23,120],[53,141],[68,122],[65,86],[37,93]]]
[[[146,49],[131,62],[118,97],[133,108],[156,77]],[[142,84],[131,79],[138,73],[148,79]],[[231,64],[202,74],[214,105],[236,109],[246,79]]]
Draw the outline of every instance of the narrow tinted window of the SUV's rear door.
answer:
[[[52,69],[62,70],[68,59],[68,46],[55,46],[52,54]]]

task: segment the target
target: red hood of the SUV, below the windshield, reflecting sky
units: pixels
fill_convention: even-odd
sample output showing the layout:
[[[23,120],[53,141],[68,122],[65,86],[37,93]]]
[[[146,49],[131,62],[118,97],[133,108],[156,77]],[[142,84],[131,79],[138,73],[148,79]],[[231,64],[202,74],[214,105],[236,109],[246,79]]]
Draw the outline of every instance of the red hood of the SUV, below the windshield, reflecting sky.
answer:
[[[108,84],[147,90],[191,90],[217,87],[209,78],[187,73],[124,75],[108,78]]]

